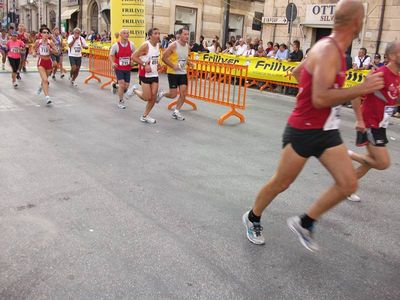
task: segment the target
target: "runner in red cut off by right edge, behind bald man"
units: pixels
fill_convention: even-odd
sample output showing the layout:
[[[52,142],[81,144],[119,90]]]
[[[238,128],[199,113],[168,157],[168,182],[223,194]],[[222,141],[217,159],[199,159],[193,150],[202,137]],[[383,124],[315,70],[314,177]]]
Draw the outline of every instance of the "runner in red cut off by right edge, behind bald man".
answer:
[[[383,73],[385,87],[363,97],[362,104],[360,98],[352,102],[357,118],[356,129],[363,133],[363,144],[367,146],[367,154],[349,150],[351,158],[361,164],[356,170],[358,178],[363,177],[370,169],[385,170],[390,166],[386,128],[400,104],[400,42],[389,43],[385,56],[389,63],[375,71]],[[347,199],[360,201],[356,195]]]

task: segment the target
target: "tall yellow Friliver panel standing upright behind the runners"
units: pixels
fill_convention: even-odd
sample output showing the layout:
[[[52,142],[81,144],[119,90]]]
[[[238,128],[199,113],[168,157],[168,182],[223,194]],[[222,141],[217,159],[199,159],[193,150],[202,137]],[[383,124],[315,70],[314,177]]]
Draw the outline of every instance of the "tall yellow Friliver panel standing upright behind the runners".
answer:
[[[129,30],[129,40],[138,48],[145,39],[145,0],[111,0],[111,36],[122,28]]]

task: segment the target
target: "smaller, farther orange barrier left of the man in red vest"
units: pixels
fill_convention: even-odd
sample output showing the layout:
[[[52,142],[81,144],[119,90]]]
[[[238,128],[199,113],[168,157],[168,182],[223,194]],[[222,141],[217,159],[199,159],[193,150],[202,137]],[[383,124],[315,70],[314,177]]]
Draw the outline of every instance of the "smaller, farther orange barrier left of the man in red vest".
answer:
[[[90,80],[95,79],[101,82],[99,76],[106,77],[109,80],[101,85],[101,89],[116,81],[114,70],[109,60],[109,51],[106,49],[90,48],[89,51],[89,72],[90,76],[85,79],[87,84]]]

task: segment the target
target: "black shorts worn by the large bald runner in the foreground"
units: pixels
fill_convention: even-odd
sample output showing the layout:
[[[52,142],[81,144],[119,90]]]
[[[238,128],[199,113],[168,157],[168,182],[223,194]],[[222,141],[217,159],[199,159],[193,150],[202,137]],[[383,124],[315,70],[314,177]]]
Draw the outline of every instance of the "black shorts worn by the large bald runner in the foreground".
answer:
[[[343,140],[337,129],[296,129],[287,125],[283,133],[283,148],[288,144],[304,158],[319,158],[326,149],[343,144]]]

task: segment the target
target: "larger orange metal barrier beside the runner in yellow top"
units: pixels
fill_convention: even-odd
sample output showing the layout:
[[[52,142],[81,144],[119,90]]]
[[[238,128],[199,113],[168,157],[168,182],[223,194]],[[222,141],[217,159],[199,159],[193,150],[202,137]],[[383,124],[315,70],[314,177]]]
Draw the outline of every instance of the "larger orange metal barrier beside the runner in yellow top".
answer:
[[[200,60],[190,62],[193,66],[188,66],[187,97],[229,107],[230,111],[219,118],[219,125],[232,116],[239,118],[241,123],[245,122],[244,115],[237,110],[246,109],[248,66]],[[171,102],[168,109],[177,102]],[[197,109],[192,101],[185,99],[185,103]]]

